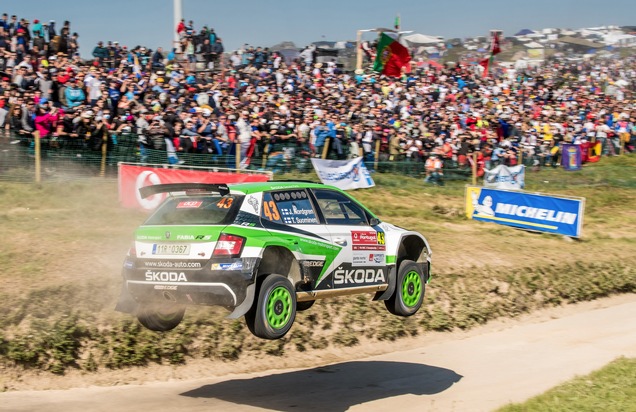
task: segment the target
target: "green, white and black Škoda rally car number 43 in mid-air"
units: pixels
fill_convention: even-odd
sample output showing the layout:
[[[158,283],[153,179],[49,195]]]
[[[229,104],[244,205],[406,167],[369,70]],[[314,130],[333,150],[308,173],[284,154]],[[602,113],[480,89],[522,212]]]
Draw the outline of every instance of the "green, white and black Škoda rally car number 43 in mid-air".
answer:
[[[311,182],[146,186],[166,196],[135,232],[117,310],[154,331],[188,305],[245,316],[264,339],[283,337],[317,299],[373,294],[389,312],[422,305],[431,249],[417,232],[381,222],[348,193]]]

